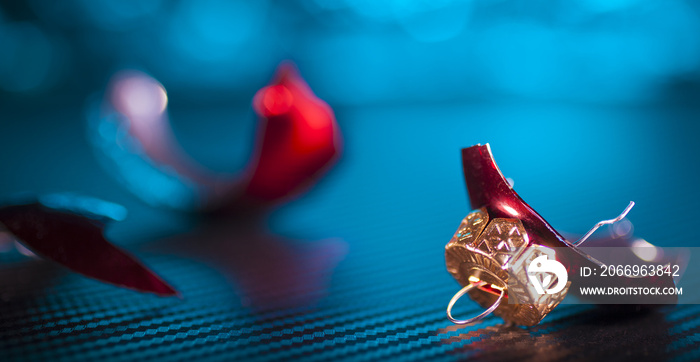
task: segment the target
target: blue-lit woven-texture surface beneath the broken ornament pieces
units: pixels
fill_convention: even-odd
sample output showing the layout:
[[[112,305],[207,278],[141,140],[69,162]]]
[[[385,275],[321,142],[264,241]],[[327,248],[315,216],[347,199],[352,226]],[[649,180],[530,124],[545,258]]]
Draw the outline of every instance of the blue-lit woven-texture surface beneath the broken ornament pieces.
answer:
[[[585,231],[633,199],[635,234],[656,244],[696,245],[691,228],[673,228],[677,219],[655,211],[668,207],[685,220],[698,216],[692,180],[700,152],[692,132],[649,121],[633,128],[636,133],[615,136],[586,124],[574,127],[585,133],[577,137],[589,137],[596,146],[568,147],[576,129],[551,119],[571,118],[580,109],[542,113],[544,123],[536,125],[504,123],[512,114],[499,112],[340,110],[342,162],[311,194],[277,210],[259,228],[234,221],[194,225],[140,205],[123,191],[98,194],[131,212],[108,235],[171,282],[183,299],[122,290],[5,253],[0,360],[700,358],[700,305],[645,313],[562,305],[532,328],[505,326],[495,317],[467,327],[447,321],[447,301],[459,287],[445,270],[444,245],[469,211],[461,146],[491,142],[515,189],[557,228]],[[605,123],[610,112],[591,119]],[[484,113],[501,123],[475,128],[454,117]],[[429,118],[444,122],[418,122]],[[608,127],[614,133],[632,125]],[[517,140],[537,129],[551,132],[539,145],[519,148],[524,143]],[[659,129],[671,134],[659,135]],[[648,139],[658,141],[656,148],[648,149]],[[674,143],[680,150],[665,148]],[[602,165],[591,160],[615,151],[617,158]],[[99,174],[89,152],[66,152],[78,169]],[[599,169],[581,172],[589,167]],[[6,180],[6,189],[19,190],[23,177],[38,176]],[[90,191],[90,180],[61,182]],[[479,311],[464,301],[455,314]]]

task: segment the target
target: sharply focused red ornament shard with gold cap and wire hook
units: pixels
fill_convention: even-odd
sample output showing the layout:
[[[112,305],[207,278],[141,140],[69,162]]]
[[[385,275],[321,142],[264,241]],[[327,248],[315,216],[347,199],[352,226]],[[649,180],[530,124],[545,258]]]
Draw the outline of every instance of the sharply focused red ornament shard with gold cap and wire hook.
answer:
[[[600,278],[580,278],[570,271],[582,268],[595,270],[606,265],[601,260],[609,262],[603,259],[605,252],[594,257],[589,250],[631,246],[634,240],[629,236],[588,239],[600,226],[621,221],[634,202],[630,202],[618,217],[601,221],[584,236],[569,241],[513,190],[496,166],[488,144],[463,149],[462,162],[474,211],[462,220],[445,247],[447,270],[463,286],[448,303],[447,316],[450,321],[469,324],[493,313],[508,323],[533,326],[559,305],[567,294],[587,298],[592,303],[605,303],[602,296],[580,295],[577,292],[579,289],[570,288],[572,283],[577,286],[591,285],[590,280],[600,281]],[[580,247],[584,243],[586,248]],[[606,248],[589,249],[588,246]],[[633,263],[643,261],[632,252],[627,254],[625,260],[632,260]],[[667,259],[673,257],[671,253],[667,254]],[[535,280],[533,274],[538,271],[547,273],[542,273],[543,276]],[[644,278],[613,275],[603,279],[603,283],[605,286],[625,288],[675,286],[673,276],[668,274]],[[452,316],[452,308],[465,294],[485,311],[470,319],[456,319]],[[635,296],[623,298],[621,304],[674,304],[676,301],[675,295],[655,298]]]

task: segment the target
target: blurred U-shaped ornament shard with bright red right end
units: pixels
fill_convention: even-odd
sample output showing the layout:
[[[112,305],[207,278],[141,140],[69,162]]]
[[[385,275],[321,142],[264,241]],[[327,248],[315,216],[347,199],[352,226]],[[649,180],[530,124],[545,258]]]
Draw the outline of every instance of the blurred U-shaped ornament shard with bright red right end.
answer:
[[[112,78],[88,112],[89,136],[102,166],[148,204],[213,213],[264,209],[318,181],[337,160],[342,137],[333,110],[288,62],[257,92],[253,110],[258,132],[237,174],[209,170],[182,149],[165,87],[142,72]]]

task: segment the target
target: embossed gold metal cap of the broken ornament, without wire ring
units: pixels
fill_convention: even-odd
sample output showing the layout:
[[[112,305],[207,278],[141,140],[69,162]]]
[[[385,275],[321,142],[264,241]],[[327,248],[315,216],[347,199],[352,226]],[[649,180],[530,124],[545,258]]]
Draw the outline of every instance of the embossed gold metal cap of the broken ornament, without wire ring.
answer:
[[[554,259],[552,249],[540,245],[528,247],[527,233],[520,220],[490,220],[482,208],[462,220],[445,247],[445,263],[462,286],[483,284],[468,294],[484,308],[492,306],[500,290],[505,289],[509,299],[494,314],[507,322],[532,326],[556,307],[568,291],[567,285],[561,293],[540,295],[528,283],[527,266],[542,254]]]

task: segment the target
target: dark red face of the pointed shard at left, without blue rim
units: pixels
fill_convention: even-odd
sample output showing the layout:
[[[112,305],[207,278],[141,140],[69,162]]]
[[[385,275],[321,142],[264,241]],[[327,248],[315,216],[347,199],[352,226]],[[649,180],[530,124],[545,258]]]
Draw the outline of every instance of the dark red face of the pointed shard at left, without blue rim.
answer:
[[[179,293],[105,239],[104,223],[41,203],[0,208],[0,224],[38,256],[102,282],[160,296]]]

